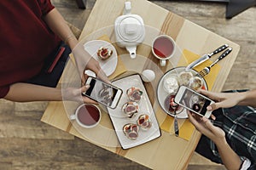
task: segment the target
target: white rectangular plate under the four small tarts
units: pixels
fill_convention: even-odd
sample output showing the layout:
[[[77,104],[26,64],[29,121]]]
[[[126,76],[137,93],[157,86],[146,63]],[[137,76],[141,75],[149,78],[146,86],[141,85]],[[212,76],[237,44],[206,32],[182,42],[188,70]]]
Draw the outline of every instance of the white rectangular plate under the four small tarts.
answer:
[[[156,139],[160,137],[160,127],[154,115],[154,110],[148,99],[148,94],[146,89],[143,86],[143,81],[139,75],[132,75],[130,77],[125,77],[113,82],[113,85],[121,88],[123,90],[123,95],[119,101],[119,105],[114,109],[108,108],[108,113],[113,123],[113,127],[118,136],[119,143],[121,144],[123,149],[129,149],[131,147],[137,146],[139,144],[144,144],[150,140]],[[136,116],[132,118],[128,118],[125,116],[125,113],[122,111],[122,105],[124,105],[127,101],[129,101],[126,90],[136,87],[140,88],[143,91],[142,99],[138,102],[139,111]],[[126,123],[135,123],[137,124],[138,116],[142,114],[148,114],[151,119],[152,127],[150,127],[147,131],[143,131],[142,129],[138,132],[137,139],[128,139],[123,133],[123,127]]]

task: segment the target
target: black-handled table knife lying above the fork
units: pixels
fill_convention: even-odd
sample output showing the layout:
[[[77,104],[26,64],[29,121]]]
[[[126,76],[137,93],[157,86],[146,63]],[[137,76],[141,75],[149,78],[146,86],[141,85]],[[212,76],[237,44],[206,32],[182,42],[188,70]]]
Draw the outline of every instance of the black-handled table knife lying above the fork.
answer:
[[[189,71],[191,69],[193,69],[196,65],[200,65],[201,63],[205,62],[207,59],[210,59],[212,57],[212,55],[214,54],[218,54],[219,52],[222,52],[225,48],[228,48],[229,45],[228,44],[224,44],[221,47],[215,49],[212,53],[209,54],[204,54],[201,58],[196,59],[195,61],[193,61],[192,63],[190,63],[186,68],[185,71]]]

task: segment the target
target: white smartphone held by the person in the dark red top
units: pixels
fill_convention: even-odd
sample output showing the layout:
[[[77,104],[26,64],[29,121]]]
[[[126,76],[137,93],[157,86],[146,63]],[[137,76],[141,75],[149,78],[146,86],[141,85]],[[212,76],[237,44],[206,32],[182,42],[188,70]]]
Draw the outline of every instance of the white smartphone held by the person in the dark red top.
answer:
[[[114,87],[106,82],[102,82],[95,77],[88,77],[85,84],[89,84],[90,88],[87,89],[83,95],[112,109],[118,105],[119,99],[123,94],[122,89]]]

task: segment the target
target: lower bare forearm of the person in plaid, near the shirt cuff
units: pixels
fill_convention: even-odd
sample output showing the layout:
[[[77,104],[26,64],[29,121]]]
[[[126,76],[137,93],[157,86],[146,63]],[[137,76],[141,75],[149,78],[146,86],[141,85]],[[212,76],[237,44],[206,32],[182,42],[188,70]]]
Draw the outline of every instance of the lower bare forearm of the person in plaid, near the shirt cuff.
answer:
[[[230,148],[230,145],[226,140],[215,142],[218,148],[218,153],[224,166],[229,170],[238,170],[241,166],[241,159],[234,150]]]

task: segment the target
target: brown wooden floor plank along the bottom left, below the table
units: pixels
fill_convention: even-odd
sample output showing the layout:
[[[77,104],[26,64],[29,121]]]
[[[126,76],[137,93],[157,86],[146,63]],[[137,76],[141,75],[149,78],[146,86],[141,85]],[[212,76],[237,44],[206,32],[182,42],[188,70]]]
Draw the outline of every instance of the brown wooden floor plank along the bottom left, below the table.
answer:
[[[82,139],[0,139],[0,167],[11,169],[148,169]],[[2,169],[2,168],[1,168]]]

